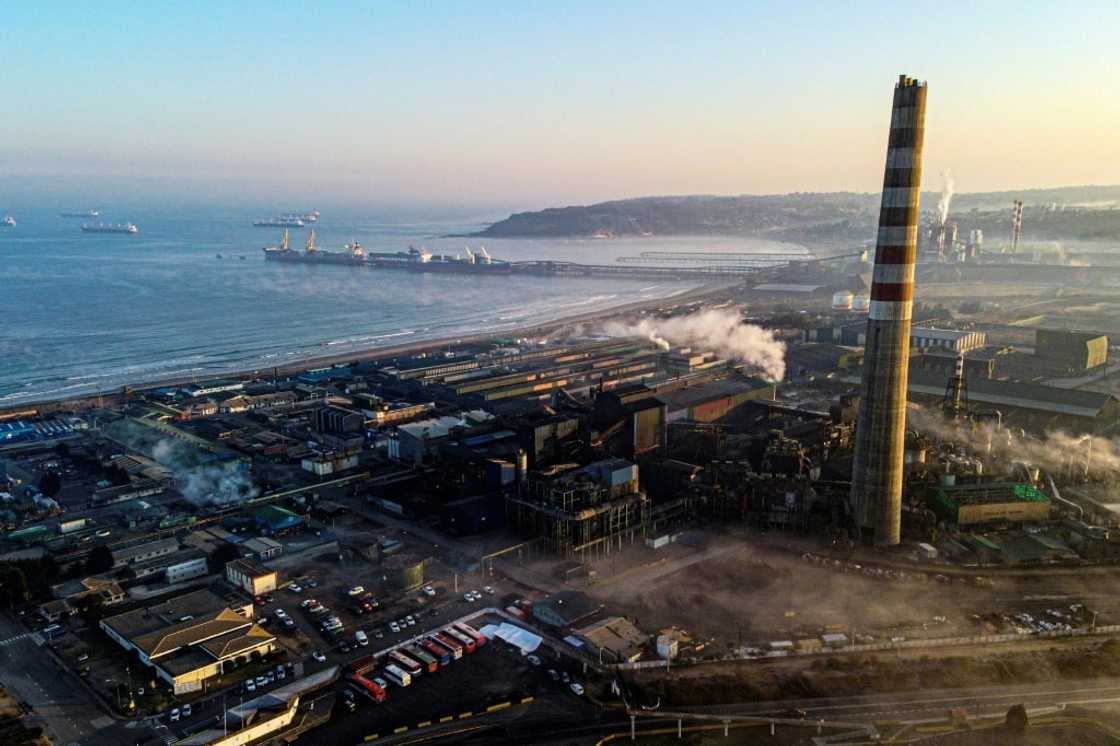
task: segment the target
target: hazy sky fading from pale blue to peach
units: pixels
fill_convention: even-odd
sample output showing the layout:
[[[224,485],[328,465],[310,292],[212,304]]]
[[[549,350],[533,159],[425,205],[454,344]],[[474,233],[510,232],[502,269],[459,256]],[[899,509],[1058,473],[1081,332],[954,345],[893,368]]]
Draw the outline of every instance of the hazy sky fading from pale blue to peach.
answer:
[[[0,203],[870,192],[899,73],[930,83],[927,187],[1116,184],[1118,30],[1117,0],[10,0]]]

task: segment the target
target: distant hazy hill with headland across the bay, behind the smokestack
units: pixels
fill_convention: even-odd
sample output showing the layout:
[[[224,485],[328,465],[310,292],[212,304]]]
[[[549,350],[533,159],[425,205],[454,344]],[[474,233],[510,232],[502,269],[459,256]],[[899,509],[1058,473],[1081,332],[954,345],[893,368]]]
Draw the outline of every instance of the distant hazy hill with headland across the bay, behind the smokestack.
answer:
[[[924,192],[922,205],[932,209],[939,194]],[[960,194],[953,198],[954,220],[998,225],[1012,199],[1023,199],[1039,209],[1052,204],[1120,204],[1120,186],[1062,187]],[[485,237],[587,237],[634,235],[741,235],[780,241],[852,241],[874,234],[879,195],[852,192],[793,193],[785,195],[740,195],[722,197],[690,195],[638,197],[596,205],[550,207],[515,213],[475,234]],[[987,218],[976,212],[990,211]],[[1117,217],[1120,218],[1120,211]],[[972,215],[969,215],[973,213]],[[1077,221],[1065,221],[1076,223]],[[1112,234],[1112,221],[1089,230],[1093,237]],[[992,225],[995,227],[995,225]],[[1076,226],[1072,226],[1077,233]],[[1120,231],[1120,227],[1118,227]],[[1026,232],[1026,229],[1025,229]],[[1053,237],[1053,236],[1052,236]],[[1065,237],[1077,237],[1068,235]]]

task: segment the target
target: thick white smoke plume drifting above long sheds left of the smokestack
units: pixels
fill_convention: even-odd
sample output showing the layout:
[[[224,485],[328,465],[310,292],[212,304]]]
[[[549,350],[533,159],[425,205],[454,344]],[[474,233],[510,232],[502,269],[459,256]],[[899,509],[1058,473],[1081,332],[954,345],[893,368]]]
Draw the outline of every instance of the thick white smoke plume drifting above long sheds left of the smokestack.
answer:
[[[785,343],[769,329],[745,324],[737,311],[728,309],[646,318],[636,324],[610,321],[604,333],[612,337],[645,337],[663,349],[678,345],[717,353],[754,366],[769,381],[785,376]]]

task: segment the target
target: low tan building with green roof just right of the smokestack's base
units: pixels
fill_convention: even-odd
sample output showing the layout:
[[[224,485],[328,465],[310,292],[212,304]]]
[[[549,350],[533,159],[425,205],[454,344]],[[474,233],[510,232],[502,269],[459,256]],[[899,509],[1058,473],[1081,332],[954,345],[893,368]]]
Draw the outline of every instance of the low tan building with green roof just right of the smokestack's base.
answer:
[[[930,507],[946,523],[1021,523],[1049,520],[1049,497],[1029,484],[996,483],[941,486]]]

